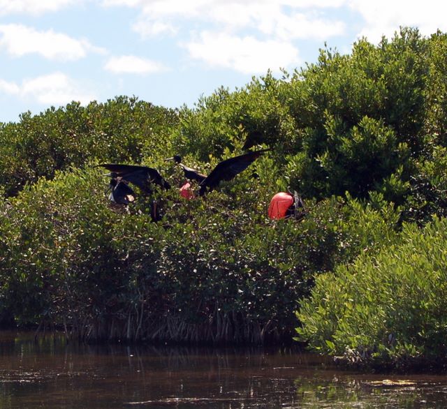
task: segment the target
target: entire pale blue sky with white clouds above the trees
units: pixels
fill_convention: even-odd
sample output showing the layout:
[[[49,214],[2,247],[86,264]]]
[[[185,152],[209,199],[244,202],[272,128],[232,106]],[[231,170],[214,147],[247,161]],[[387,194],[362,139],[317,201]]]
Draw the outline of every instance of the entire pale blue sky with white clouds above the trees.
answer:
[[[325,44],[447,31],[446,15],[441,0],[0,0],[0,122],[119,95],[193,107]]]

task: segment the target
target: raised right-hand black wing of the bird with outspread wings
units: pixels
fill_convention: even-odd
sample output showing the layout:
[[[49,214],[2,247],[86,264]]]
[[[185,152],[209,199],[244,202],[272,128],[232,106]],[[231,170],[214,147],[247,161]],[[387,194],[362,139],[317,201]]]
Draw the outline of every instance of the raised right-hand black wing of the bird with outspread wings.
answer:
[[[211,192],[214,188],[219,186],[219,183],[223,180],[231,180],[237,174],[240,174],[243,170],[246,170],[251,163],[261,156],[265,151],[270,149],[261,149],[259,151],[252,151],[248,154],[235,156],[234,158],[226,159],[216,165],[208,176],[200,183],[200,189],[198,194],[200,196],[205,195],[207,192]]]

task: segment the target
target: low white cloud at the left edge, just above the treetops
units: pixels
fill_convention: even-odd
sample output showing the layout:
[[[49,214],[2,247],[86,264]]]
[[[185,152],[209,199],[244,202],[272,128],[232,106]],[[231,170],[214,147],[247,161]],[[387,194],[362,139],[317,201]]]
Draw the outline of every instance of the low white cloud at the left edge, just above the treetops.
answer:
[[[63,73],[52,73],[24,80],[21,85],[0,80],[0,92],[31,99],[45,105],[65,105],[71,101],[89,103],[96,97],[93,92]]]

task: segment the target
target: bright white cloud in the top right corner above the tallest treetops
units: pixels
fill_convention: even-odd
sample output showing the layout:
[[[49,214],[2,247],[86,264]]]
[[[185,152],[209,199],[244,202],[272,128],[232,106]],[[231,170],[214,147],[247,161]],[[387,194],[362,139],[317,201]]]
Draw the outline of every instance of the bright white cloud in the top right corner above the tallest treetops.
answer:
[[[418,27],[422,34],[447,30],[447,3],[438,0],[349,0],[349,6],[365,20],[359,36],[377,43],[382,35],[392,37],[400,26]]]

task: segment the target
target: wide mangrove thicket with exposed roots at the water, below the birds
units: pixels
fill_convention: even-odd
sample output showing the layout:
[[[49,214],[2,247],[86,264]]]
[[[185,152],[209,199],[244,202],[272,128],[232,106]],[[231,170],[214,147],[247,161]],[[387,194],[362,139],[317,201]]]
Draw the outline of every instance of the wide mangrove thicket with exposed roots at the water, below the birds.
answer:
[[[258,173],[269,163],[261,158]],[[270,194],[247,173],[207,200],[156,193],[165,216],[151,223],[152,199],[127,211],[110,205],[99,172],[57,172],[5,204],[0,299],[17,322],[51,322],[85,339],[290,337],[314,277],[369,251],[397,219],[332,199],[309,202],[300,223],[269,221]]]

